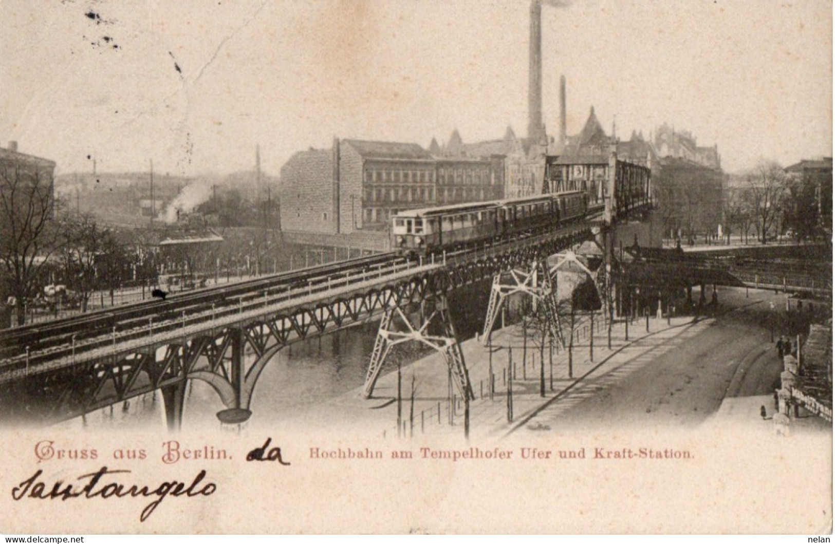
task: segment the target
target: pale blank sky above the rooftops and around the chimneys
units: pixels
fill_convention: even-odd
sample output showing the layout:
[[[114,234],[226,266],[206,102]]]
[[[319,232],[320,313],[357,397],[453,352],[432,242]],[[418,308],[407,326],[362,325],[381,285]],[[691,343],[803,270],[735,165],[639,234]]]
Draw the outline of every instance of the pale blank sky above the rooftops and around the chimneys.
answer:
[[[57,172],[262,168],[338,138],[527,128],[527,0],[0,0],[0,146]],[[545,5],[544,121],[661,123],[727,171],[832,154],[832,3]]]

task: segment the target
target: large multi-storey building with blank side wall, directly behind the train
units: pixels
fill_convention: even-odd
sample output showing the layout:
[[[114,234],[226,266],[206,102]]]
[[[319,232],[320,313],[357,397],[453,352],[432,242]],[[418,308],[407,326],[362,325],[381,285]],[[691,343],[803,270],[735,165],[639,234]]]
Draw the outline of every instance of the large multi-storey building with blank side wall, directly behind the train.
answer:
[[[417,144],[334,139],[281,168],[281,229],[385,230],[402,209],[501,199],[500,157],[437,157]]]

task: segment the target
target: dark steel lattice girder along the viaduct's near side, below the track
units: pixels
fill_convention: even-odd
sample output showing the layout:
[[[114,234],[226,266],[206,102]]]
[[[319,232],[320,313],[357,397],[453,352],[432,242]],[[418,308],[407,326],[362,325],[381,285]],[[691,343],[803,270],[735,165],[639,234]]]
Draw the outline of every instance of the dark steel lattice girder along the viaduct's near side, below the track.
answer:
[[[326,304],[300,306],[289,312],[264,315],[255,320],[247,318],[235,328],[204,331],[190,339],[184,337],[176,344],[149,345],[119,352],[89,363],[32,375],[27,380],[47,384],[48,390],[55,393],[53,413],[58,419],[80,416],[182,380],[211,377],[218,383],[230,385],[230,365],[235,364],[228,355],[230,335],[239,327],[245,330],[246,344],[262,359],[265,354],[312,335],[329,334],[372,320],[400,301],[433,300],[463,285],[487,280],[499,272],[527,264],[540,255],[555,253],[589,235],[589,229],[577,229],[535,246],[476,255],[460,264],[423,271]],[[160,356],[162,347],[164,353]],[[263,363],[259,364],[260,371]],[[251,370],[254,367],[255,364]],[[142,375],[147,379],[143,380]]]

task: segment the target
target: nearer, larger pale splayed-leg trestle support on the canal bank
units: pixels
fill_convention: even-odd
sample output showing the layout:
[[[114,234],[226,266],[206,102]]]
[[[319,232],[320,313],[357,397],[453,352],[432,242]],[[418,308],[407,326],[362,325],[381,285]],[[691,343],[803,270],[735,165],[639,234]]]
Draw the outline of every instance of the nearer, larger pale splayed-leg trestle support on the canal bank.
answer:
[[[366,398],[371,397],[374,386],[377,385],[377,378],[380,376],[382,366],[395,345],[412,341],[428,345],[433,350],[442,353],[447,362],[453,383],[464,401],[464,435],[468,436],[469,403],[470,400],[475,399],[475,395],[470,385],[467,365],[464,363],[464,354],[455,334],[452,316],[449,314],[447,297],[442,295],[434,310],[429,313],[428,318],[420,321],[419,324],[413,325],[407,316],[407,312],[402,310],[400,306],[392,306],[386,310],[382,320],[380,320],[377,340],[374,341],[374,350],[372,350],[371,361],[368,364],[363,395]],[[430,327],[439,330],[438,334],[433,334]]]

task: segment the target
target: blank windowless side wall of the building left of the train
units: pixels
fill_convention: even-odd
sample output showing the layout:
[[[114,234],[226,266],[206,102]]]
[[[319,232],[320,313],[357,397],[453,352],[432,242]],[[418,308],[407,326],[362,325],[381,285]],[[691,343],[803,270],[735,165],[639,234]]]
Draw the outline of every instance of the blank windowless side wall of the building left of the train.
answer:
[[[281,229],[337,232],[330,149],[300,151],[281,167]]]

